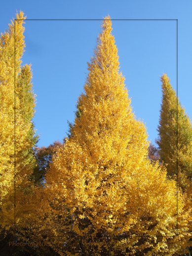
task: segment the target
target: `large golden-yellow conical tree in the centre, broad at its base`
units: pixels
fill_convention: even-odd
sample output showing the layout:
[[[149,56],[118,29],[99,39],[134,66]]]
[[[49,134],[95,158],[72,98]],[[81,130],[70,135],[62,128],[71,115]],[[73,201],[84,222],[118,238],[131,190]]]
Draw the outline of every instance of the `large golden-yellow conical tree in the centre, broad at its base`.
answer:
[[[184,254],[189,213],[175,181],[147,157],[148,135],[132,112],[111,26],[107,16],[69,138],[25,206],[30,233],[61,256]]]

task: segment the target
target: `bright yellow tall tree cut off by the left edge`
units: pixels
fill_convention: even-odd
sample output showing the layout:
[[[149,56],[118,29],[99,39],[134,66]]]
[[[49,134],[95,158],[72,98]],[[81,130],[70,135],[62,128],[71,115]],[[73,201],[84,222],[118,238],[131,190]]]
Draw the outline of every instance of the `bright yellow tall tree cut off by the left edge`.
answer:
[[[24,52],[26,17],[21,11],[0,37],[0,230],[19,221],[16,205],[29,185],[32,173],[24,164],[23,152],[31,148],[28,133],[31,124],[24,123],[17,83]]]

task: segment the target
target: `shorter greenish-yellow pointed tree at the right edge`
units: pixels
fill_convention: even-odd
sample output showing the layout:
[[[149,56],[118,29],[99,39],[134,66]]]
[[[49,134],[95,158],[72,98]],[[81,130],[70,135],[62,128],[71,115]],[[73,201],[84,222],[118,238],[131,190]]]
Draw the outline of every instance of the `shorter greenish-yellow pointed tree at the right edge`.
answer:
[[[161,82],[162,104],[156,143],[161,162],[167,164],[168,175],[178,173],[179,184],[184,187],[186,178],[192,177],[192,123],[166,74]]]

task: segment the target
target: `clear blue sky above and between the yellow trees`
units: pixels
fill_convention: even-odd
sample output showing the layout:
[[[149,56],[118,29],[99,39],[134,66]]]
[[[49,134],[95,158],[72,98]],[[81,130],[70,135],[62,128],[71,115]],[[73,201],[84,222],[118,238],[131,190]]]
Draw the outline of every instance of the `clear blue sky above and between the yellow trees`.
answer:
[[[178,94],[192,116],[191,0],[4,0],[0,10],[2,33],[19,10],[27,19],[102,19],[109,14],[133,111],[146,123],[153,143],[161,104],[160,76],[167,73],[177,87],[177,21],[163,19],[178,19]],[[33,69],[38,146],[67,136],[67,120],[74,121],[100,24],[101,20],[26,21],[22,60]]]

